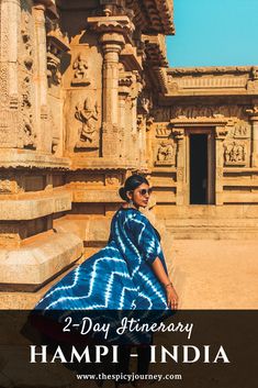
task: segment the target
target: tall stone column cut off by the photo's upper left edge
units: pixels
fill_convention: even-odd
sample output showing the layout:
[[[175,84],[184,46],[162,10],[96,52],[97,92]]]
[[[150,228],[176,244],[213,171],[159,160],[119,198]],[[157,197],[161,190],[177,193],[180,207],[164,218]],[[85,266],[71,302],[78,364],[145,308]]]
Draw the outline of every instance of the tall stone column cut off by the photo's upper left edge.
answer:
[[[0,147],[18,145],[20,0],[0,2]]]

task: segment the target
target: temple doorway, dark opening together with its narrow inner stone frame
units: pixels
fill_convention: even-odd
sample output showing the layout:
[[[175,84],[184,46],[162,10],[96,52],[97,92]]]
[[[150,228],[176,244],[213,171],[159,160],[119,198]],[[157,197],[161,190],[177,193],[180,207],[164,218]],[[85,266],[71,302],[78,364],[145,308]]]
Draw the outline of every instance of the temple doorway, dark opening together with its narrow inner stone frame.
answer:
[[[214,203],[214,136],[212,130],[189,131],[189,203]]]

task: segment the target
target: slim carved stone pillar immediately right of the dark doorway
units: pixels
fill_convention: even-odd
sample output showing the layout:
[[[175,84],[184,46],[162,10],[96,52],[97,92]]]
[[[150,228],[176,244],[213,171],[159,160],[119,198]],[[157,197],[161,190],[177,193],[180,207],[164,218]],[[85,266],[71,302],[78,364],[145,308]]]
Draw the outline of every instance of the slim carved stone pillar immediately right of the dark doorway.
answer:
[[[223,141],[227,135],[227,128],[225,125],[217,125],[215,128],[215,155],[216,155],[216,173],[215,173],[215,204],[223,204],[223,166],[224,166],[224,149]]]

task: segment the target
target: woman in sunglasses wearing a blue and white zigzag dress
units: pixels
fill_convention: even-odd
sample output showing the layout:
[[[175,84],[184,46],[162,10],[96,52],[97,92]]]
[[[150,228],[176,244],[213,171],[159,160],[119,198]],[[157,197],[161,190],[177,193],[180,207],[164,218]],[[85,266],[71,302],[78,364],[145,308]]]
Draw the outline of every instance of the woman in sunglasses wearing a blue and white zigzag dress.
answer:
[[[152,310],[152,318],[158,321],[162,312],[159,315],[155,310],[177,309],[178,296],[168,277],[159,233],[139,211],[139,207],[147,207],[149,184],[145,177],[132,175],[119,192],[125,203],[113,215],[108,245],[49,289],[35,307],[43,315],[55,318],[54,310],[58,310],[59,321],[66,314],[63,310],[69,314],[70,310],[74,314],[83,310],[123,310],[125,315],[127,310]],[[96,317],[99,319],[99,313]],[[110,317],[112,321],[114,315]],[[152,318],[147,315],[148,322]],[[45,323],[43,326],[45,330]],[[128,373],[131,345],[137,343],[137,373],[145,375],[150,359],[146,344],[152,342],[152,335],[139,334],[141,340],[137,334],[127,335],[130,345],[119,346],[116,373]],[[119,383],[127,381],[121,378]]]

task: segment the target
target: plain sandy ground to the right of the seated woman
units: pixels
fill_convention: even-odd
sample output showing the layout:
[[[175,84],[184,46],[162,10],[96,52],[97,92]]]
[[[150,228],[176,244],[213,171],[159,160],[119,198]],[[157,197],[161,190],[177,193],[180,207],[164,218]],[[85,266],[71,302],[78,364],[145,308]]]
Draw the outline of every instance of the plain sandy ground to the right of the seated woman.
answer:
[[[258,241],[175,240],[170,277],[181,309],[258,309]]]

